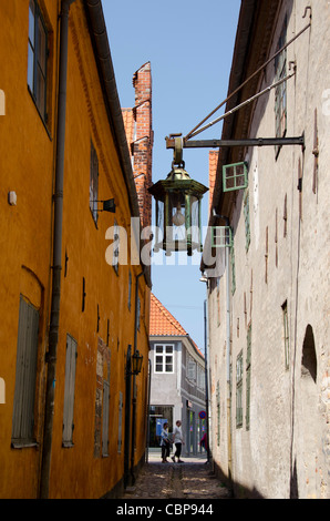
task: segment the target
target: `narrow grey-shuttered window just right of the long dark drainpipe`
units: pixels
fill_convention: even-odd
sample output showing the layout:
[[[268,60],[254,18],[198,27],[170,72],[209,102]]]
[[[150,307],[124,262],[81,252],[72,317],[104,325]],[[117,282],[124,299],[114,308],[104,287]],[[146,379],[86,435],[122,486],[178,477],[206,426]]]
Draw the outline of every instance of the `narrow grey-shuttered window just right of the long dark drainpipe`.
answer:
[[[73,410],[75,389],[76,341],[66,335],[64,411],[63,411],[63,447],[73,447]]]

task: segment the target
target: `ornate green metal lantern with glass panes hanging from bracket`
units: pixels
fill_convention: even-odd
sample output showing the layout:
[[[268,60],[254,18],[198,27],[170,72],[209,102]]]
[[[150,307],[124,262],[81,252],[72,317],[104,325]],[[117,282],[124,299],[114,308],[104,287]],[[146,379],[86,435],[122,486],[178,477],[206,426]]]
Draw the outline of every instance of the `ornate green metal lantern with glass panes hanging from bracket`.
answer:
[[[206,186],[190,178],[185,170],[182,139],[175,139],[174,161],[166,180],[158,181],[149,193],[156,202],[154,251],[202,252],[200,206]]]

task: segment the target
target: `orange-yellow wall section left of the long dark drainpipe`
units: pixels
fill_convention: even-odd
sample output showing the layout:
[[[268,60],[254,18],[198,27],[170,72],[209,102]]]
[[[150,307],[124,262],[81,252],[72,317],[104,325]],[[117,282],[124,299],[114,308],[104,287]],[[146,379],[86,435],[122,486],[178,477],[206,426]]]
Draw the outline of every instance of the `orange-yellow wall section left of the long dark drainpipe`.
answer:
[[[56,45],[56,2],[45,1]],[[39,377],[42,389],[42,354],[45,349],[49,309],[52,234],[53,135],[40,119],[28,91],[29,1],[0,2],[0,89],[6,96],[6,115],[0,116],[0,377],[6,382],[6,403],[0,405],[0,497],[35,497],[40,451],[11,449],[12,409],[16,385],[17,336],[20,294],[40,311]],[[52,74],[55,73],[55,61]],[[54,113],[55,90],[50,112]],[[17,193],[17,205],[8,193]],[[40,396],[40,395],[38,395]],[[37,399],[35,418],[42,418]],[[41,441],[41,421],[35,421]]]

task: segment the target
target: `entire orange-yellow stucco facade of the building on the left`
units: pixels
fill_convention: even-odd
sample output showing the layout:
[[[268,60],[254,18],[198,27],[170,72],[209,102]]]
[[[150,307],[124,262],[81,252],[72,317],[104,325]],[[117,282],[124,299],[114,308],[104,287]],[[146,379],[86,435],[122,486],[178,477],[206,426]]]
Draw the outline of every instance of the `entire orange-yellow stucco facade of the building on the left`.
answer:
[[[45,430],[61,1],[38,0],[33,4],[48,34],[47,118],[27,82],[29,3],[29,0],[0,2],[0,89],[6,96],[6,115],[0,116],[0,378],[6,389],[4,403],[0,400],[1,498],[40,497]],[[146,272],[136,283],[144,266],[131,265],[131,217],[138,216],[134,213],[132,185],[127,184],[127,176],[133,178],[133,175],[123,172],[121,137],[106,106],[87,8],[82,0],[70,7],[66,84],[60,324],[49,497],[100,498],[114,493],[123,483],[125,458],[130,468],[132,464],[134,429],[134,466],[144,456],[151,284]],[[96,222],[96,214],[90,208],[91,147],[99,162],[97,200],[114,198],[116,205],[115,213],[97,213]],[[10,204],[12,192],[16,200]],[[127,265],[120,264],[117,268],[105,259],[112,243],[105,238],[106,231],[115,224],[125,228],[128,236]],[[125,245],[120,244],[120,248]],[[135,314],[136,287],[138,315]],[[20,300],[39,316],[30,443],[13,442]],[[68,339],[74,340],[76,357],[74,428],[72,443],[65,445]],[[126,375],[128,346],[132,353],[137,348],[143,355],[138,376]],[[131,397],[127,378],[132,379]],[[132,417],[134,395],[135,418]],[[109,409],[104,403],[107,396]],[[128,433],[125,432],[127,415],[131,417]],[[107,448],[104,436],[109,436]],[[130,441],[128,454],[125,437]]]

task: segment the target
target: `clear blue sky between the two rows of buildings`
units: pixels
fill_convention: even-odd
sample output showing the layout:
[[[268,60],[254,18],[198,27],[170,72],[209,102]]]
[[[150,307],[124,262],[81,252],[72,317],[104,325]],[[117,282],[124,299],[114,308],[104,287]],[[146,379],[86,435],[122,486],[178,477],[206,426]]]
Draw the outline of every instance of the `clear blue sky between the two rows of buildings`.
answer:
[[[122,108],[134,106],[133,75],[151,62],[153,81],[153,182],[171,172],[165,136],[186,135],[226,98],[240,0],[103,0]],[[209,121],[221,115],[220,109]],[[220,124],[198,139],[220,139]],[[184,150],[190,177],[208,186],[208,149]],[[154,202],[153,202],[154,212]],[[207,226],[208,194],[203,198]],[[162,255],[152,265],[154,295],[204,351],[200,254]]]

